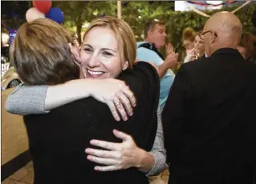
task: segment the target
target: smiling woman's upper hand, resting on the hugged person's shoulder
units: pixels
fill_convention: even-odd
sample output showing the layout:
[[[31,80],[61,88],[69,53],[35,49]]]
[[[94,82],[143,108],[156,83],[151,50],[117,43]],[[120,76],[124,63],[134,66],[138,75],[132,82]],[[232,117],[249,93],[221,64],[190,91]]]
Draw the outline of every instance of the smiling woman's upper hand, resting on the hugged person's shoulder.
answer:
[[[113,78],[92,82],[91,96],[106,103],[117,121],[120,121],[120,116],[124,121],[128,120],[128,116],[132,116],[136,98],[125,82]]]

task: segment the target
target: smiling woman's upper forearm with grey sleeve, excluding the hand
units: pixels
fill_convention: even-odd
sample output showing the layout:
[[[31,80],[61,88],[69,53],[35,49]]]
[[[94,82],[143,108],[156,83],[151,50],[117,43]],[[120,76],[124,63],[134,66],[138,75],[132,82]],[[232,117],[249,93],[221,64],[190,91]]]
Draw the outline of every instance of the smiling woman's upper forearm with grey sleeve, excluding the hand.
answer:
[[[11,114],[45,114],[49,110],[91,95],[90,79],[73,80],[56,86],[18,86],[6,99]]]

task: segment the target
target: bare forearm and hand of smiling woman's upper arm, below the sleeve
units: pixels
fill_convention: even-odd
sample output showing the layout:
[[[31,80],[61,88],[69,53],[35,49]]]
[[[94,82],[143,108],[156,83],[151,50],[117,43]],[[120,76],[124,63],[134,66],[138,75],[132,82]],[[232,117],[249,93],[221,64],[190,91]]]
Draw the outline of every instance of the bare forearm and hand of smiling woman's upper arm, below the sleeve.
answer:
[[[123,95],[122,98],[120,98],[121,95]],[[45,110],[51,110],[90,96],[105,103],[116,121],[120,121],[120,118],[126,121],[128,115],[132,115],[132,106],[136,104],[136,98],[128,86],[125,85],[125,82],[114,78],[85,78],[58,86],[49,86],[45,100]],[[118,99],[120,99],[121,106],[115,108],[114,101]]]

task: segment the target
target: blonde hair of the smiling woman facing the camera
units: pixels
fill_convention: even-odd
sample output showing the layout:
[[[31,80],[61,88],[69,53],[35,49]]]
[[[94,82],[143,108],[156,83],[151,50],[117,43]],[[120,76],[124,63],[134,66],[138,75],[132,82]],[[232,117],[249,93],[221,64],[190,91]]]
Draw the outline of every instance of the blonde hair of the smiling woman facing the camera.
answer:
[[[87,33],[94,27],[108,28],[116,34],[120,59],[121,61],[128,61],[128,68],[132,68],[136,59],[136,40],[132,32],[132,28],[128,23],[124,22],[120,18],[109,16],[96,18],[91,22],[90,26],[88,26],[87,30],[83,34],[83,40]]]

